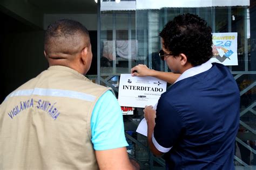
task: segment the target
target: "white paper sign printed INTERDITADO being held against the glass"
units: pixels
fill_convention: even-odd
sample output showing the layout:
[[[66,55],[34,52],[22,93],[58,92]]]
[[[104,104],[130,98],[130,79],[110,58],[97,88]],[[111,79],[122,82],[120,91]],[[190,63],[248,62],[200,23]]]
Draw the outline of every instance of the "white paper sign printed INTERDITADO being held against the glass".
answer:
[[[155,105],[166,91],[166,82],[155,77],[137,77],[121,74],[118,102],[122,106],[144,108]]]

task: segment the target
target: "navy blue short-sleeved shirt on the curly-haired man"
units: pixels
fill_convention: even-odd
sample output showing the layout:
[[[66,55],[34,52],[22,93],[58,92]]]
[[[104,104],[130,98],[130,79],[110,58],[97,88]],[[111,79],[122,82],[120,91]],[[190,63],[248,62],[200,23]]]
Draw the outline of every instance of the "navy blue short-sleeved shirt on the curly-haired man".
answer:
[[[212,65],[174,83],[158,101],[153,140],[168,152],[167,169],[234,169],[239,89],[226,66]]]

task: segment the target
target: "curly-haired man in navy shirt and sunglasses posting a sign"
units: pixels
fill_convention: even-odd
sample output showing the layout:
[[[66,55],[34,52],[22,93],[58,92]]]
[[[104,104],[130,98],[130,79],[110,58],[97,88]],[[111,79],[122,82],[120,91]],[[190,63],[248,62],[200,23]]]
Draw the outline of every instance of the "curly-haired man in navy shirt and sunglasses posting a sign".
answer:
[[[181,75],[156,111],[144,109],[151,151],[166,153],[166,169],[234,169],[240,95],[230,70],[209,61],[211,28],[188,13],[167,23],[160,37],[160,57]]]

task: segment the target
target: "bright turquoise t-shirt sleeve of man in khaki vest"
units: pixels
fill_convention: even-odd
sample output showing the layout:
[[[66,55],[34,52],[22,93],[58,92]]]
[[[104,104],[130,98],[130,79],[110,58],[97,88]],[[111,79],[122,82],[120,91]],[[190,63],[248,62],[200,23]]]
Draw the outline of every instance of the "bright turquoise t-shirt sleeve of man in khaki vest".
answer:
[[[110,90],[99,98],[92,111],[91,131],[93,148],[97,151],[128,146],[122,110]]]

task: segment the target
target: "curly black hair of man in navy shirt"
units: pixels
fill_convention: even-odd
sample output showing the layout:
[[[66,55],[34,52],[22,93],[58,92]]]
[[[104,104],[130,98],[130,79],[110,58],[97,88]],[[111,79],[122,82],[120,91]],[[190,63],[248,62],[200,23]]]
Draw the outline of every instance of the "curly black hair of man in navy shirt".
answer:
[[[193,66],[201,65],[212,57],[212,29],[204,19],[186,13],[168,22],[159,33],[164,46],[174,56],[183,53]]]

